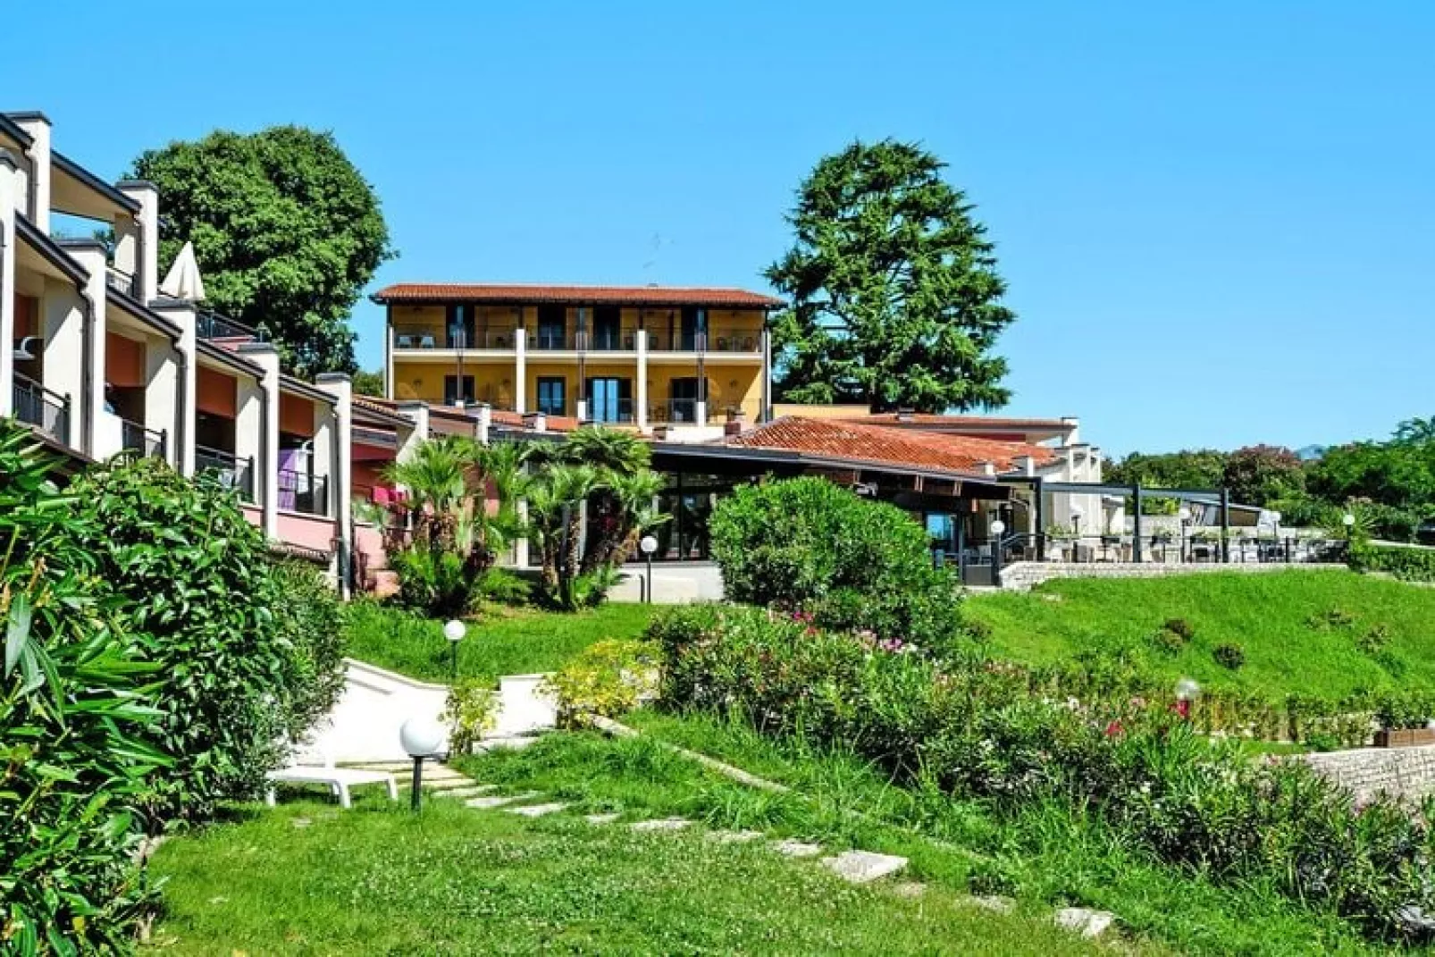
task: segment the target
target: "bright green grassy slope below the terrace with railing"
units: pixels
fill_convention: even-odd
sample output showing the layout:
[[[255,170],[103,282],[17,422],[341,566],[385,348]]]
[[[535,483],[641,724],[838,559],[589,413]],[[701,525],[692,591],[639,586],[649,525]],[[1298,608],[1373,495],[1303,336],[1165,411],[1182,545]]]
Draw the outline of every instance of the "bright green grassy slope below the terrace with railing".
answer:
[[[1307,624],[1336,608],[1355,623]],[[1435,590],[1346,571],[1069,578],[1029,594],[974,595],[964,610],[992,626],[997,654],[1035,664],[1086,649],[1124,647],[1147,650],[1149,664],[1172,680],[1188,674],[1269,694],[1340,696],[1398,679],[1435,684]],[[1195,638],[1178,656],[1155,651],[1149,641],[1168,618],[1195,627]],[[1403,674],[1356,646],[1376,626],[1389,631],[1389,651],[1403,663]],[[1238,671],[1211,657],[1227,641],[1246,650]]]

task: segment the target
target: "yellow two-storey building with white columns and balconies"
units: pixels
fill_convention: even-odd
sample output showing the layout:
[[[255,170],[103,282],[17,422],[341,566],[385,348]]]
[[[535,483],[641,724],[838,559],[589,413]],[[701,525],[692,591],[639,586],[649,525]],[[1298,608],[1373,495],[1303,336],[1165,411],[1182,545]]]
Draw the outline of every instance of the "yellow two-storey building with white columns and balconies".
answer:
[[[771,406],[768,313],[735,288],[399,283],[387,307],[389,399],[583,422],[749,422]]]

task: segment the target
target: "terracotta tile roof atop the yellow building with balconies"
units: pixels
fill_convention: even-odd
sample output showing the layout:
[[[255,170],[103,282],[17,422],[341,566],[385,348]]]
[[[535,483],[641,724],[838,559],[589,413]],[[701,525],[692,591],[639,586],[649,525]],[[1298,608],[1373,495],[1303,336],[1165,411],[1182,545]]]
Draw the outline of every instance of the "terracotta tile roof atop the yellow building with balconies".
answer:
[[[703,306],[778,308],[779,298],[740,288],[680,286],[525,286],[491,283],[396,283],[376,303],[489,303],[497,306]]]

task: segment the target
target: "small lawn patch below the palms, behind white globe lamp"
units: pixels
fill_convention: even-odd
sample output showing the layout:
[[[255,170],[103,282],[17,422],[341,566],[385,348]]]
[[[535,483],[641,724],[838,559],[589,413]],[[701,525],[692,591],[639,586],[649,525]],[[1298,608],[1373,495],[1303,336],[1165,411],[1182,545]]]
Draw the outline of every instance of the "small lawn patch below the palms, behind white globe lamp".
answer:
[[[639,637],[651,614],[651,605],[623,603],[573,614],[502,608],[468,623],[459,644],[459,674],[497,679],[552,671],[594,641]],[[449,644],[442,621],[373,601],[356,601],[347,616],[350,657],[409,677],[448,682]]]

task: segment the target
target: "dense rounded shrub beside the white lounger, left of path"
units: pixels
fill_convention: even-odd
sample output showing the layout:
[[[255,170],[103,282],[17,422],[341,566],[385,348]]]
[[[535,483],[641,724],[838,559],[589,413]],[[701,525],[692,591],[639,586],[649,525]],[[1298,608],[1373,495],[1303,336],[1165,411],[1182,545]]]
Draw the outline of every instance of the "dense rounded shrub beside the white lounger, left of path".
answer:
[[[174,766],[152,779],[149,809],[194,819],[257,796],[336,687],[337,608],[313,604],[313,580],[276,571],[263,534],[211,479],[141,459],[72,489],[86,519],[72,544],[119,600],[135,659],[158,667],[158,743]]]

